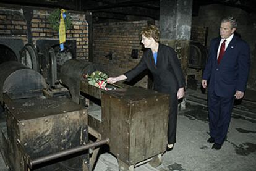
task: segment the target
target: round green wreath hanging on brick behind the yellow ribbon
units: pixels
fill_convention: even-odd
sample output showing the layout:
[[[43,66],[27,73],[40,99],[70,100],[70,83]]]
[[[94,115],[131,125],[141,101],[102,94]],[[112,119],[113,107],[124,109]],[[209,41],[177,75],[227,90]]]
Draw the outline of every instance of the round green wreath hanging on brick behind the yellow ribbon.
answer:
[[[72,20],[69,13],[65,12],[66,17],[64,18],[65,29],[68,30],[72,27]],[[55,9],[48,18],[48,21],[55,31],[59,31],[59,20],[61,17],[61,9]]]

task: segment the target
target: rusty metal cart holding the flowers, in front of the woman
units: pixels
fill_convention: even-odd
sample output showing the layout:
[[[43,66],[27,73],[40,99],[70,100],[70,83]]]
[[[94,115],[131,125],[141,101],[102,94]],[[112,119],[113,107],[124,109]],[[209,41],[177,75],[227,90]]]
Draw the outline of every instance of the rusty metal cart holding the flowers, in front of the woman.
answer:
[[[61,69],[61,81],[69,88],[73,101],[79,102],[81,96],[90,99],[89,130],[98,140],[109,138],[109,149],[117,157],[119,170],[134,170],[136,164],[147,159],[161,164],[167,144],[169,96],[127,85],[108,91],[96,88],[82,77],[96,69],[96,64],[78,60],[67,61]]]

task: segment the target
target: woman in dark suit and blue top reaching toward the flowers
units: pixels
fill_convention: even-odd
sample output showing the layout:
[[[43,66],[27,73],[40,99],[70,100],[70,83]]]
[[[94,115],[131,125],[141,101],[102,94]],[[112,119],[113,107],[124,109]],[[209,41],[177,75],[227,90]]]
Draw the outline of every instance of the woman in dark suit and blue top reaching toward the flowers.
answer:
[[[140,35],[147,51],[134,69],[118,77],[108,78],[109,83],[117,81],[130,81],[145,69],[153,74],[154,90],[170,94],[170,111],[168,123],[168,150],[176,143],[177,105],[178,99],[184,96],[185,79],[181,65],[173,48],[159,43],[160,31],[155,25],[143,28]]]

